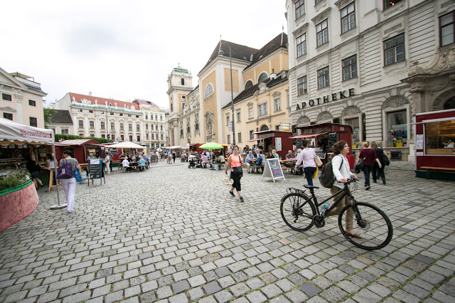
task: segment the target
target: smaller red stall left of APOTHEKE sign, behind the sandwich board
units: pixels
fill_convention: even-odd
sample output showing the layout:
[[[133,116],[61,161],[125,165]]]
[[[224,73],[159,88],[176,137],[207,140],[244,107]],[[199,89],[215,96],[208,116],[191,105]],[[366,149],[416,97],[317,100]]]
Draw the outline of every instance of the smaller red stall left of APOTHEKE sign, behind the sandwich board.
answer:
[[[269,129],[262,132],[253,132],[253,134],[256,134],[256,138],[249,140],[249,142],[257,142],[256,145],[262,148],[264,154],[275,149],[279,157],[285,159],[287,151],[293,150],[291,132]]]

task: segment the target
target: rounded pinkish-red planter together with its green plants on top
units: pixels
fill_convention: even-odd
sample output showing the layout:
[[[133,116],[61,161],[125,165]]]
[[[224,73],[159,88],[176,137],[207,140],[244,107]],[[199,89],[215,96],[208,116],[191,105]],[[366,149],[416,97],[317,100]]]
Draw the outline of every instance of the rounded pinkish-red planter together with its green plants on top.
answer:
[[[0,231],[28,216],[38,201],[30,174],[14,172],[0,177]]]

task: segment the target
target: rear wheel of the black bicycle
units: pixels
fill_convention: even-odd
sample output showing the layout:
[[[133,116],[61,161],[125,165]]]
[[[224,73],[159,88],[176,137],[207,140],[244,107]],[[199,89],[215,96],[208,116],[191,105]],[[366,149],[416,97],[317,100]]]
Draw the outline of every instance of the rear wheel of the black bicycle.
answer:
[[[304,193],[288,193],[282,198],[279,211],[284,223],[293,230],[305,231],[313,226],[316,208],[309,199]]]

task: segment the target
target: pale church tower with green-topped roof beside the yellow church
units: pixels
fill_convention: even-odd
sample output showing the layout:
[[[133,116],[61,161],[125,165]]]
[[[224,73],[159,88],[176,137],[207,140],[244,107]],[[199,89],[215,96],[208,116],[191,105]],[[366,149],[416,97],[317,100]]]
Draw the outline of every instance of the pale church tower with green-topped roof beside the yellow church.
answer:
[[[188,105],[187,95],[193,90],[193,76],[191,72],[185,68],[178,66],[172,69],[168,75],[168,98],[169,98],[169,134],[171,145],[185,145],[183,138],[183,120],[179,120],[178,116],[183,112],[183,109]]]

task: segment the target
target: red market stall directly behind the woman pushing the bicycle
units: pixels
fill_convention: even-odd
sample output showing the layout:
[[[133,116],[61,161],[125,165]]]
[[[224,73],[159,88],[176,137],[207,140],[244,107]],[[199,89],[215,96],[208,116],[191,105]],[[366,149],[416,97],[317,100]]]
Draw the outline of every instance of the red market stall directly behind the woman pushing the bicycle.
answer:
[[[321,123],[296,127],[299,134],[291,137],[296,139],[296,148],[301,148],[301,140],[309,140],[309,146],[314,148],[316,154],[321,158],[322,163],[326,164],[331,155],[331,147],[338,141],[346,141],[350,147],[349,154],[346,156],[349,161],[350,169],[354,168],[355,157],[352,152],[353,129],[346,124]]]

